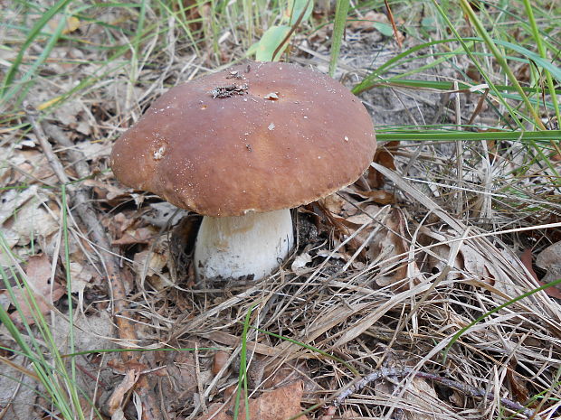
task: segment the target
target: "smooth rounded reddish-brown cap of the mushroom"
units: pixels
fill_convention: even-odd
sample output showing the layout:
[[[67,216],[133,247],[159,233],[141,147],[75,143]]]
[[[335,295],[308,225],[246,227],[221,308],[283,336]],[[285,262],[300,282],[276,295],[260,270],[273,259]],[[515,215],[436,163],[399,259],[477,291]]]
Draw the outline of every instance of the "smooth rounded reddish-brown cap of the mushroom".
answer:
[[[208,216],[289,209],[355,182],[372,120],[338,81],[253,62],[170,89],[111,153],[120,182]]]

